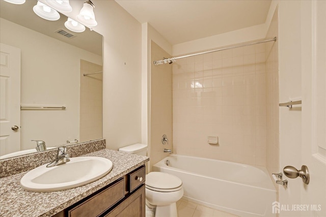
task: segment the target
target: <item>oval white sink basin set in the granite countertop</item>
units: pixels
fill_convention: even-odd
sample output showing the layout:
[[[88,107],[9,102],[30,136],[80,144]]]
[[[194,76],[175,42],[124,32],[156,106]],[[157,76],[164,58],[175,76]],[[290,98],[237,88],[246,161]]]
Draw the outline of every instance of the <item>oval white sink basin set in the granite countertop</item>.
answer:
[[[112,170],[112,161],[100,157],[76,157],[54,167],[39,166],[20,179],[23,189],[35,192],[52,192],[88,184]]]

